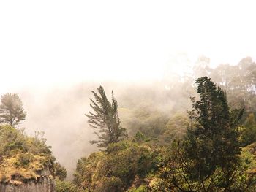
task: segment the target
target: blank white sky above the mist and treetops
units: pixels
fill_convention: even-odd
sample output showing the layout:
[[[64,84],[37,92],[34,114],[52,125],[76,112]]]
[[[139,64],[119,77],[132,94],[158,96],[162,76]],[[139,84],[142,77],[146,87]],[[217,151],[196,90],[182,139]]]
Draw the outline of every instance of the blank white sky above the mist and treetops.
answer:
[[[160,79],[178,53],[187,53],[192,63],[206,55],[213,65],[256,58],[255,5],[0,1],[0,92],[83,80]]]

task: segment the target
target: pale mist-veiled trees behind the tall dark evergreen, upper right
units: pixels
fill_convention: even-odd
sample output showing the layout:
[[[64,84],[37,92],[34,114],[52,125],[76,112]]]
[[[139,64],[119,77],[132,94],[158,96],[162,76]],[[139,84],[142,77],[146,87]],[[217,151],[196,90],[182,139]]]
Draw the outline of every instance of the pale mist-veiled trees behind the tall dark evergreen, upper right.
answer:
[[[221,64],[215,69],[202,64],[197,72],[196,77],[211,77],[227,92],[232,109],[245,107],[246,115],[256,111],[256,64],[252,58],[243,58],[237,65]]]

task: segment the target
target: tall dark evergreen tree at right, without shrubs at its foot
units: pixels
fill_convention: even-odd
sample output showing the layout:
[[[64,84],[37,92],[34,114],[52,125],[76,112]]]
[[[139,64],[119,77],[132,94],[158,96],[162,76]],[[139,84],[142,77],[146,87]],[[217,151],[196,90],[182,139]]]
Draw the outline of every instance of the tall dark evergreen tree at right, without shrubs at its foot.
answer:
[[[187,132],[187,158],[195,160],[195,177],[208,177],[219,168],[227,177],[222,184],[230,185],[241,152],[236,128],[244,110],[230,112],[225,92],[208,77],[196,83],[200,100],[193,98],[189,111],[193,123]]]

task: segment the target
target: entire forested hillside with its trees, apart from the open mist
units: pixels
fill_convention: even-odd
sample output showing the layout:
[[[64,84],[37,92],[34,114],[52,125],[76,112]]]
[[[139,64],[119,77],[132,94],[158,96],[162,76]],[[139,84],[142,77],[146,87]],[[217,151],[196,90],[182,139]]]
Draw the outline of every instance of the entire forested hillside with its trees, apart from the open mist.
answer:
[[[42,132],[29,137],[20,128],[26,111],[18,95],[4,94],[0,185],[47,177],[57,192],[255,191],[255,62],[213,69],[202,57],[191,74],[169,75],[144,87],[90,90],[84,128],[97,150],[78,159],[68,181]]]

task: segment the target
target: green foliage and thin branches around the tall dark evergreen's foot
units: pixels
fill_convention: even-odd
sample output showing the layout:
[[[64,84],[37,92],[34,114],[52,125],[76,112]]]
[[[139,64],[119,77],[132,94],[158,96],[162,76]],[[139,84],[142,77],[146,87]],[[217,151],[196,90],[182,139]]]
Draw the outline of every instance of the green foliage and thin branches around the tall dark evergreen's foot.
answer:
[[[195,178],[195,161],[189,161],[184,142],[173,142],[167,151],[166,164],[151,186],[153,191],[255,191],[255,145],[243,148],[241,164],[233,169],[227,187],[227,172],[219,166],[208,177]]]

